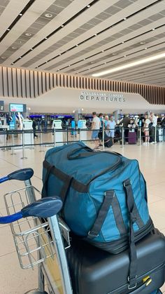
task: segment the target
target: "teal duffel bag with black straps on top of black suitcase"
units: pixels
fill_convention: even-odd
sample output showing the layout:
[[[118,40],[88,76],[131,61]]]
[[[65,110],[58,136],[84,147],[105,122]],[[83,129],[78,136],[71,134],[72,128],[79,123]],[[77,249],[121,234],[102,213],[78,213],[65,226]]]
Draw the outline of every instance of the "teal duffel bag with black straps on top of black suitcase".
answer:
[[[110,253],[127,248],[131,227],[134,241],[153,228],[138,161],[82,142],[48,150],[42,194],[61,196],[71,231]]]

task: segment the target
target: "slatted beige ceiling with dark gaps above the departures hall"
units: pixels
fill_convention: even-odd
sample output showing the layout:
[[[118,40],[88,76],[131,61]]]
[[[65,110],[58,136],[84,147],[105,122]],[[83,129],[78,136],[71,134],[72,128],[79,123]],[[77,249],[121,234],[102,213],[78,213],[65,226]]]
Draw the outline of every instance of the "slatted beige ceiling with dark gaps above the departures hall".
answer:
[[[1,0],[0,64],[91,76],[165,51],[165,0]],[[165,86],[165,60],[105,79]]]

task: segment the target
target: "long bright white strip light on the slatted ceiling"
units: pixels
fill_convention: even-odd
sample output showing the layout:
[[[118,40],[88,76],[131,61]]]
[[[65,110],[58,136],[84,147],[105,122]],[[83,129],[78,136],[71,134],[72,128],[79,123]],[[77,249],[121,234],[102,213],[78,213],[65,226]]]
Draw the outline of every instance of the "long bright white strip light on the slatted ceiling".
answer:
[[[92,74],[92,76],[104,76],[106,74],[111,74],[113,72],[119,72],[120,70],[127,69],[130,67],[136,67],[138,65],[143,65],[144,63],[152,62],[152,61],[158,60],[160,58],[165,58],[165,52],[163,52],[161,54],[157,54],[157,55],[152,55],[148,58],[136,60],[135,62],[130,62],[130,63],[124,64],[124,65],[121,65],[120,67],[113,67],[113,68],[105,70],[103,72],[98,72],[97,74]]]

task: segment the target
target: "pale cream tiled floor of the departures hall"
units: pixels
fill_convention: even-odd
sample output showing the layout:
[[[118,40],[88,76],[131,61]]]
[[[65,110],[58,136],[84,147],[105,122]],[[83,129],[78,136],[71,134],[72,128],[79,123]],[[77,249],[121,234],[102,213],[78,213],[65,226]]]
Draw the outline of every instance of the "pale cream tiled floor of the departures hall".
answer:
[[[0,176],[6,175],[17,168],[34,168],[32,183],[41,190],[42,162],[44,152],[39,152],[39,147],[27,149],[27,159],[21,159],[21,150],[16,150],[16,155],[10,155],[10,150],[0,150]],[[114,145],[110,150],[120,152],[130,159],[138,159],[141,171],[148,185],[148,202],[150,215],[155,226],[165,234],[165,142],[157,145],[138,146]],[[0,185],[0,215],[6,214],[3,194],[20,187],[20,182],[4,182]],[[31,269],[20,269],[9,225],[0,226],[0,294],[23,294],[37,286],[37,272]],[[165,293],[165,286],[162,287]]]

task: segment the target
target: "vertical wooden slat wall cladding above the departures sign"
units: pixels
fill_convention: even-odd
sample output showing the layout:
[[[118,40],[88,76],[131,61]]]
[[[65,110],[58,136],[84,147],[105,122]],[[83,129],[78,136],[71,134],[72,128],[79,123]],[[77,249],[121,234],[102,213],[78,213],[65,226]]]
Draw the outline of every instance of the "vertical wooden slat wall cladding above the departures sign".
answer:
[[[0,67],[1,97],[36,98],[56,87],[138,93],[150,104],[165,105],[165,88],[162,86]]]

